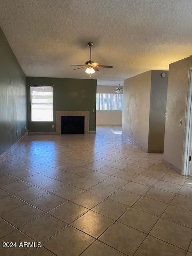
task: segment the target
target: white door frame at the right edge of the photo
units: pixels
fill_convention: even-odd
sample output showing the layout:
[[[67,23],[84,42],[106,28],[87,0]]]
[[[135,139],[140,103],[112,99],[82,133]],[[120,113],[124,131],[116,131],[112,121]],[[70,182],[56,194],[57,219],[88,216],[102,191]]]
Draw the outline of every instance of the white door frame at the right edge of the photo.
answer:
[[[189,157],[192,156],[192,136],[190,136],[190,134],[192,134],[192,67],[189,68],[188,75],[188,95],[186,104],[182,175],[190,175],[192,162],[192,160],[189,161]]]

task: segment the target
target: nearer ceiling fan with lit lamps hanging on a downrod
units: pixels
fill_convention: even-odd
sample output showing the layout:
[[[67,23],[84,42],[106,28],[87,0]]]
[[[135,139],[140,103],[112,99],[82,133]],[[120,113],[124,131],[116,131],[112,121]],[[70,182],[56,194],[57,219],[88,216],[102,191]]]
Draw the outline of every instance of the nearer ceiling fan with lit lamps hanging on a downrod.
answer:
[[[94,74],[96,71],[99,71],[98,68],[112,68],[113,66],[104,66],[100,65],[98,62],[94,62],[91,60],[91,47],[93,46],[92,42],[88,42],[87,46],[90,48],[90,53],[89,53],[89,60],[85,62],[85,65],[70,65],[70,66],[82,66],[81,68],[86,68],[85,72],[91,76],[91,74]],[[80,69],[80,68],[75,68]]]

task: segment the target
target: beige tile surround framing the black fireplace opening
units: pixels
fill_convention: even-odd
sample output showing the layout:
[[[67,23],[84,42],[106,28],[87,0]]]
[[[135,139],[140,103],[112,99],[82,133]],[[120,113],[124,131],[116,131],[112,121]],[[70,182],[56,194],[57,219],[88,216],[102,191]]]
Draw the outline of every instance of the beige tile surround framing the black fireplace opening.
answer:
[[[61,134],[61,116],[84,116],[85,134],[96,133],[89,130],[89,111],[56,111],[56,134]]]

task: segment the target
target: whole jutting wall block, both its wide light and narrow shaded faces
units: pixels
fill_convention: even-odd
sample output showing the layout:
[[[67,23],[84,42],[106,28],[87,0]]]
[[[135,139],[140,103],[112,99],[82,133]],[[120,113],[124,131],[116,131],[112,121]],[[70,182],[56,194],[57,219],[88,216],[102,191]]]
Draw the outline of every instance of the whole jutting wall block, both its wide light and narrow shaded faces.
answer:
[[[167,81],[168,71],[164,70],[124,80],[122,136],[148,152],[163,151]]]

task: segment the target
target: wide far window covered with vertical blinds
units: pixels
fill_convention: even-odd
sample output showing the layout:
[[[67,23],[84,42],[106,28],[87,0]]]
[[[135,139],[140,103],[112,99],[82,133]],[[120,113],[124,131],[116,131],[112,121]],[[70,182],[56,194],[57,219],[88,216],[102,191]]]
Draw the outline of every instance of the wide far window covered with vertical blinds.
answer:
[[[96,110],[122,110],[123,94],[97,93]]]

